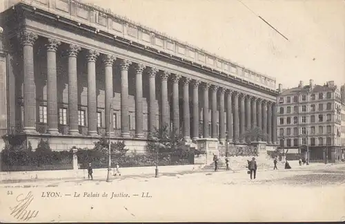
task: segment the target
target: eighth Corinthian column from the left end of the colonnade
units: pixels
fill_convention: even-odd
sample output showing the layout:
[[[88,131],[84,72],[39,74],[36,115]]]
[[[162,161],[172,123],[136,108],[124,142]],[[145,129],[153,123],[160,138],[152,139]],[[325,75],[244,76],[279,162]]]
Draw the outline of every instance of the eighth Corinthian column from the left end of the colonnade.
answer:
[[[156,110],[155,110],[155,100],[156,100],[156,75],[158,73],[158,68],[148,69],[148,131],[150,135],[155,131],[156,124]]]

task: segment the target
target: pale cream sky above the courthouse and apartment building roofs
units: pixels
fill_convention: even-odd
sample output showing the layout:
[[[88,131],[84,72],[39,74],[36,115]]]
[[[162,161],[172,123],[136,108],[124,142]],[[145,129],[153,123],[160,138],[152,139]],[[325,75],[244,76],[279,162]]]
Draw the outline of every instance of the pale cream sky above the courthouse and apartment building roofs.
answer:
[[[115,14],[204,48],[283,88],[302,80],[345,83],[342,0],[88,0]],[[250,9],[246,8],[243,3]],[[288,40],[270,28],[274,26]]]

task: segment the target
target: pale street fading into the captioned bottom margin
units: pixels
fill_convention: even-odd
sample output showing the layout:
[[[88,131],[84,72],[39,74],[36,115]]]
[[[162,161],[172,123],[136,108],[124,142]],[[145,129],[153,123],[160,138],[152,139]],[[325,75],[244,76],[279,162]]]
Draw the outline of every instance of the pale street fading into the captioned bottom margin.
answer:
[[[345,165],[0,185],[1,221],[341,221]],[[294,167],[293,167],[294,168]],[[28,194],[25,209],[12,213]],[[19,194],[22,194],[19,196]],[[17,200],[16,200],[17,199]],[[36,213],[35,213],[36,212]],[[27,217],[28,216],[28,217]],[[32,216],[32,217],[31,217]]]

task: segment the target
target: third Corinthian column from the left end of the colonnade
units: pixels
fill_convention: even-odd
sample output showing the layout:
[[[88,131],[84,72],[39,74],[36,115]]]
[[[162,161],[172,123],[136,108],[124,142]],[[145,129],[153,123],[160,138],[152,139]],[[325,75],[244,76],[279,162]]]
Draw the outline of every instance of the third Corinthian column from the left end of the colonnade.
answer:
[[[69,134],[79,135],[78,129],[78,78],[77,78],[77,55],[81,48],[70,44],[68,54],[68,122]]]

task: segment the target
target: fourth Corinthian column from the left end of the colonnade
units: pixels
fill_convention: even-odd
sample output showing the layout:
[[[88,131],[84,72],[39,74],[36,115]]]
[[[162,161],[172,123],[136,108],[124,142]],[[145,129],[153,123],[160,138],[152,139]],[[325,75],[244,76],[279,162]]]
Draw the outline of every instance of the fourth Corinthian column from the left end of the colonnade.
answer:
[[[97,136],[96,60],[99,53],[88,51],[88,134]]]

